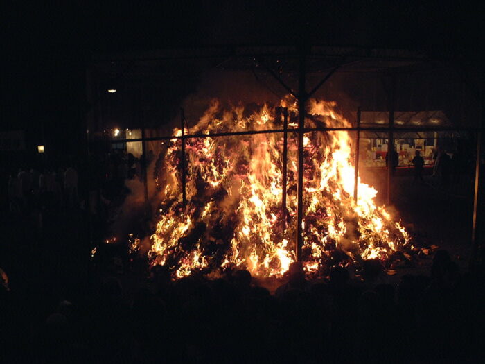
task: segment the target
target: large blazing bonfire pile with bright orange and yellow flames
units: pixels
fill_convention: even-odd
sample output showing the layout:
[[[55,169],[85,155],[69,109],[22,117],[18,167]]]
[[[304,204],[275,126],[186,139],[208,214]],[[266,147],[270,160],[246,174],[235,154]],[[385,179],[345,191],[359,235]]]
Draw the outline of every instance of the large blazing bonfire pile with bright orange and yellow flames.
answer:
[[[186,141],[187,204],[182,205],[181,139],[171,139],[157,186],[161,204],[148,257],[173,276],[246,268],[281,277],[294,261],[297,225],[297,124],[289,111],[287,221],[282,212],[283,133],[191,137]],[[274,108],[222,110],[213,101],[186,135],[281,129]],[[312,100],[306,126],[346,128],[335,103]],[[175,136],[182,135],[176,128]],[[353,140],[349,132],[309,132],[304,139],[303,265],[308,274],[361,259],[384,261],[409,245],[399,222],[376,206],[377,191],[358,182],[353,198]],[[139,243],[136,240],[136,243]],[[136,248],[136,247],[135,247]]]

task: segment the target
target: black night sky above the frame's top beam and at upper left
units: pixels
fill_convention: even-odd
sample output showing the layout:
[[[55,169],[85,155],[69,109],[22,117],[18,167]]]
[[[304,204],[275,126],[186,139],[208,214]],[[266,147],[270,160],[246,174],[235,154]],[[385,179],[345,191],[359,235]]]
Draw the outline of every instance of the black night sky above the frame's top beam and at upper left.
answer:
[[[3,2],[1,129],[78,139],[93,53],[204,45],[310,44],[418,49],[477,58],[484,5],[459,1]],[[59,138],[60,153],[78,153]],[[56,138],[57,139],[57,138]],[[62,141],[64,139],[64,141]]]

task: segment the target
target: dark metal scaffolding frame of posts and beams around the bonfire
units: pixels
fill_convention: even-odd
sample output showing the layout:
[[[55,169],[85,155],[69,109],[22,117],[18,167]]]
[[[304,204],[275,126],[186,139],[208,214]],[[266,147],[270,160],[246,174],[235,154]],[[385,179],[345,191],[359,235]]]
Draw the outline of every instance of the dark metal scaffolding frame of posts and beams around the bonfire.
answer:
[[[145,128],[143,127],[142,137],[139,139],[116,139],[112,140],[111,143],[123,143],[123,142],[134,142],[141,141],[143,143],[143,154],[145,141],[163,141],[170,139],[181,139],[181,175],[182,175],[182,202],[184,207],[186,206],[186,156],[185,156],[185,144],[186,139],[192,138],[206,138],[206,137],[229,137],[237,135],[256,135],[256,134],[269,134],[269,133],[283,133],[284,148],[283,148],[283,193],[282,193],[282,211],[283,211],[283,227],[286,227],[287,220],[287,210],[286,210],[286,164],[284,161],[287,159],[286,146],[288,143],[288,133],[297,133],[298,138],[298,183],[297,183],[297,236],[295,237],[295,254],[296,259],[301,260],[301,248],[303,247],[303,136],[308,132],[328,132],[335,130],[342,131],[355,131],[357,132],[356,146],[355,146],[355,189],[354,198],[358,198],[358,165],[359,165],[359,140],[360,132],[371,131],[371,132],[387,132],[389,137],[389,146],[391,150],[394,149],[394,132],[423,132],[423,131],[468,131],[474,132],[477,135],[477,160],[475,166],[475,191],[473,198],[473,223],[472,226],[472,243],[473,249],[476,250],[478,237],[477,237],[477,223],[478,223],[478,209],[477,205],[479,203],[479,180],[480,180],[480,153],[481,153],[481,140],[482,132],[484,131],[483,121],[482,126],[479,128],[448,128],[448,127],[424,127],[424,128],[409,128],[409,127],[396,127],[394,125],[394,104],[396,99],[396,79],[394,73],[391,73],[391,87],[388,90],[388,101],[389,101],[389,124],[382,127],[362,127],[360,123],[360,108],[357,110],[357,120],[356,126],[350,128],[306,128],[305,119],[306,113],[306,103],[312,94],[317,92],[317,89],[324,85],[326,80],[330,78],[340,67],[344,66],[344,60],[350,60],[351,62],[359,62],[359,60],[397,60],[400,62],[430,62],[430,60],[422,54],[410,53],[409,51],[400,50],[386,50],[386,49],[363,49],[357,47],[326,47],[326,46],[314,46],[314,47],[288,47],[288,46],[276,46],[276,47],[254,47],[254,46],[243,46],[243,47],[212,47],[202,50],[197,49],[195,51],[191,49],[186,49],[183,51],[158,51],[149,52],[139,55],[138,58],[134,58],[132,55],[109,55],[107,58],[98,57],[98,61],[112,61],[112,60],[177,60],[177,59],[204,59],[204,58],[245,58],[252,57],[254,62],[261,64],[264,69],[272,75],[275,80],[277,80],[281,86],[286,89],[287,92],[292,94],[297,99],[297,107],[299,111],[299,123],[298,128],[288,128],[288,110],[281,108],[276,110],[276,115],[283,114],[283,128],[274,130],[247,130],[240,132],[216,132],[210,134],[194,134],[191,135],[188,128],[186,128],[186,119],[184,116],[184,110],[181,109],[181,129],[182,135],[179,136],[167,136],[167,137],[145,137]],[[266,56],[284,56],[286,58],[294,58],[299,61],[299,88],[295,92],[291,87],[286,85],[286,83],[274,72],[271,67],[268,67],[263,58]],[[331,67],[328,74],[315,86],[310,92],[306,92],[306,59],[308,56],[312,58],[328,58],[333,59],[335,64]],[[443,57],[441,57],[443,59]],[[357,60],[357,61],[355,61]],[[185,133],[187,129],[187,134]],[[89,135],[89,130],[88,130]],[[388,153],[389,153],[388,151]],[[387,203],[389,204],[392,200],[391,196],[391,179],[392,179],[392,167],[391,163],[388,163],[387,167]],[[145,182],[145,198],[148,198],[148,188],[146,177]],[[148,203],[148,201],[147,201]]]

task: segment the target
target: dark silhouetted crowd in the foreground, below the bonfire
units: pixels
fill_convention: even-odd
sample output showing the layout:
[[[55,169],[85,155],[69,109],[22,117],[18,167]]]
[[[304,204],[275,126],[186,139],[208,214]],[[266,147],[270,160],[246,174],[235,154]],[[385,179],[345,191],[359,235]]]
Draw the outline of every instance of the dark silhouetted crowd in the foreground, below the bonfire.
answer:
[[[314,282],[292,263],[274,293],[247,270],[173,281],[163,266],[110,261],[91,288],[49,304],[1,291],[15,362],[468,363],[484,354],[484,280],[445,250],[428,275],[397,285],[378,261],[359,277],[335,267]],[[44,309],[19,320],[29,304]]]

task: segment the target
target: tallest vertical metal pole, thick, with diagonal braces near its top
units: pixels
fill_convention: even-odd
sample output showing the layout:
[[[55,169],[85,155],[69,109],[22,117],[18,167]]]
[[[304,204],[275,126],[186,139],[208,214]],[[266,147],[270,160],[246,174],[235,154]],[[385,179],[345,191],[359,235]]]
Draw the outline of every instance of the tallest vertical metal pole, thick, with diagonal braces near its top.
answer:
[[[299,69],[298,91],[298,184],[297,184],[297,249],[296,260],[301,261],[301,247],[303,246],[303,137],[305,136],[305,106],[306,106],[306,71],[305,55],[301,53]]]

